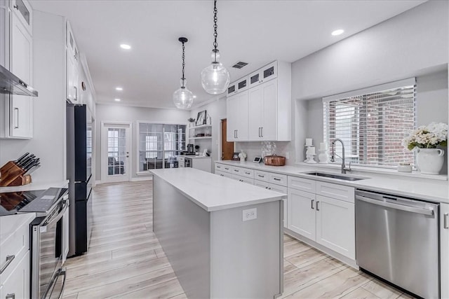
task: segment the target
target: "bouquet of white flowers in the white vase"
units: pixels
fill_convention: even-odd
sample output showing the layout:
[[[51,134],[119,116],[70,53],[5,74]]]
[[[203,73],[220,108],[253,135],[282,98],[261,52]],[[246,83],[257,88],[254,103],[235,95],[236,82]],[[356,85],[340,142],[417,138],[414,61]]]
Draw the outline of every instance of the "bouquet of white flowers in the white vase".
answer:
[[[402,145],[410,151],[413,148],[436,148],[448,146],[448,125],[445,123],[430,123],[422,125],[402,140]]]

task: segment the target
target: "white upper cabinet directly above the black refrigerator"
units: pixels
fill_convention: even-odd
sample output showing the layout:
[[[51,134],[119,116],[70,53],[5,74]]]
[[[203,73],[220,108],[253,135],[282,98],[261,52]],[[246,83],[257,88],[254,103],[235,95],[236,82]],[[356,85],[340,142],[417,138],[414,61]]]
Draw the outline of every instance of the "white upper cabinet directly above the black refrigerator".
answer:
[[[66,98],[79,103],[79,52],[69,21],[66,22]]]

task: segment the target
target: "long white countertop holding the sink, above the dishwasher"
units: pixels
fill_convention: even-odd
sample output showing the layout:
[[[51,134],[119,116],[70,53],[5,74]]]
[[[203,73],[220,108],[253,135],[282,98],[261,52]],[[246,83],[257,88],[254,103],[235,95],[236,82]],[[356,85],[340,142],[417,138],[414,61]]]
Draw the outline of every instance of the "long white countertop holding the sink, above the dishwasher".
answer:
[[[220,160],[216,163],[232,165],[236,167],[247,167],[251,169],[260,169],[266,172],[275,172],[278,174],[287,174],[289,176],[298,176],[304,179],[314,179],[316,181],[326,181],[329,183],[338,183],[340,185],[352,186],[354,188],[375,190],[394,195],[403,195],[421,200],[431,200],[434,202],[443,202],[449,204],[449,183],[448,181],[412,178],[409,176],[394,176],[379,173],[354,172],[348,176],[360,176],[368,179],[360,181],[344,181],[341,179],[330,179],[322,176],[310,176],[304,172],[328,172],[339,174],[340,169],[323,169],[320,166],[300,165],[300,166],[267,166],[262,163],[240,162],[232,160]]]

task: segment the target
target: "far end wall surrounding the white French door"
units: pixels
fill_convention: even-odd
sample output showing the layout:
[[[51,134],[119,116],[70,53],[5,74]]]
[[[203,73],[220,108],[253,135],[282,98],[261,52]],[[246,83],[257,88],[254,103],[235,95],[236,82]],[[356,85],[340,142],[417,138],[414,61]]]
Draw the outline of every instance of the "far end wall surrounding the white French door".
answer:
[[[152,108],[140,108],[133,106],[123,106],[123,105],[96,105],[96,116],[95,116],[95,169],[96,175],[95,179],[101,181],[101,123],[103,121],[108,122],[130,122],[133,123],[133,138],[131,146],[131,176],[133,178],[137,177],[136,172],[137,167],[137,137],[138,128],[137,121],[144,120],[153,123],[181,123],[187,125],[187,118],[189,118],[190,112],[185,110],[170,110],[170,109],[152,109]]]

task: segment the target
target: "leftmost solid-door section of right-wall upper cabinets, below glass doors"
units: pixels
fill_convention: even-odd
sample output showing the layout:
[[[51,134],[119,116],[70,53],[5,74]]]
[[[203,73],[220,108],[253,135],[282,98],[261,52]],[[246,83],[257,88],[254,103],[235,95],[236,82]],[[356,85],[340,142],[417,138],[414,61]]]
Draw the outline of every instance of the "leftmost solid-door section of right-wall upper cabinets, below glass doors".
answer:
[[[226,100],[227,141],[248,140],[248,91],[240,92]]]

